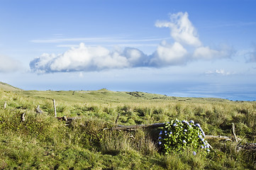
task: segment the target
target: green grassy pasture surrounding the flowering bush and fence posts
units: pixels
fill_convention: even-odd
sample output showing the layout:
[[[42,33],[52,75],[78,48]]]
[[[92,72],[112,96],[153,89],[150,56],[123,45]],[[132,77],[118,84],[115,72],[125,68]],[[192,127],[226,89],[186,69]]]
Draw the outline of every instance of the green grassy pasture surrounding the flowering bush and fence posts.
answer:
[[[79,117],[71,125],[54,118]],[[4,108],[4,103],[7,103]],[[43,114],[37,114],[37,106]],[[21,115],[26,113],[25,121]],[[256,169],[256,153],[236,143],[208,140],[210,154],[165,155],[160,129],[112,131],[119,125],[194,120],[206,135],[236,135],[255,142],[256,102],[177,98],[142,92],[4,91],[0,89],[0,169]]]

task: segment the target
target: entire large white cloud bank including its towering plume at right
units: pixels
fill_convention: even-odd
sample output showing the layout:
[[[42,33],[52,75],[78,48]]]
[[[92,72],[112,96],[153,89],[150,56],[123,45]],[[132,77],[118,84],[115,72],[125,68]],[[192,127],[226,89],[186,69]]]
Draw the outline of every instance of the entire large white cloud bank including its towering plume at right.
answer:
[[[116,47],[108,50],[101,46],[80,43],[66,52],[55,55],[44,53],[30,62],[33,72],[89,72],[104,69],[131,67],[168,67],[184,65],[195,60],[216,60],[230,57],[232,49],[227,46],[212,49],[204,46],[187,12],[174,13],[170,21],[157,21],[155,26],[169,28],[170,43],[163,40],[152,55],[145,55],[135,47]]]

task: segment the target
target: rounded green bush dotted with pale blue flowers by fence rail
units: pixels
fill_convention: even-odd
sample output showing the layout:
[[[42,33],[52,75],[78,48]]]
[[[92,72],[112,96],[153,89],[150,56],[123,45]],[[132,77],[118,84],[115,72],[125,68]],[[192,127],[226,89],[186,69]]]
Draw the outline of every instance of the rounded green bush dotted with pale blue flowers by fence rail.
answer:
[[[187,148],[193,149],[194,155],[199,151],[206,154],[210,152],[210,145],[204,139],[204,130],[199,123],[194,124],[193,120],[172,120],[165,124],[159,135],[158,144],[165,150],[165,154],[181,152]]]

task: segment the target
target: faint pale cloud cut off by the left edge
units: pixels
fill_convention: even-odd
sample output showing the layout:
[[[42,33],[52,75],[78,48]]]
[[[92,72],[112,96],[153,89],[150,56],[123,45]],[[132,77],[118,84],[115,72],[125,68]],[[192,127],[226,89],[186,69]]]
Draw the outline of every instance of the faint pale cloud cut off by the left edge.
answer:
[[[16,72],[21,69],[21,63],[11,57],[0,55],[0,72]]]

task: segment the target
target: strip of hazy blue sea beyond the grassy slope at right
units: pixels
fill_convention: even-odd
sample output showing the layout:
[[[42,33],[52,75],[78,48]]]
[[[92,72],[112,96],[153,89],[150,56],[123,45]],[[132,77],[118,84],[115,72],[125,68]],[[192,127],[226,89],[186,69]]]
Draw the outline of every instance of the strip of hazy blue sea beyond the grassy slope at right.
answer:
[[[126,91],[144,91],[177,97],[224,98],[230,101],[256,101],[254,84],[147,84],[143,88],[130,86]]]

